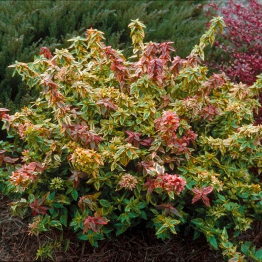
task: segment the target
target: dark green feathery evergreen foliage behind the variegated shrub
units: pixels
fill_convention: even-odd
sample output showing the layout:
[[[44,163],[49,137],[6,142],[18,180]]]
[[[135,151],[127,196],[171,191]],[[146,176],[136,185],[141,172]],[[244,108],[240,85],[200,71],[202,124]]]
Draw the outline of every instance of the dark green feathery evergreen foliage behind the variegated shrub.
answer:
[[[66,39],[94,27],[105,32],[106,43],[131,55],[130,19],[146,22],[146,41],[172,40],[177,55],[187,56],[205,31],[203,1],[50,1],[0,2],[0,102],[11,111],[35,96],[7,66],[32,61],[42,46],[67,47]]]

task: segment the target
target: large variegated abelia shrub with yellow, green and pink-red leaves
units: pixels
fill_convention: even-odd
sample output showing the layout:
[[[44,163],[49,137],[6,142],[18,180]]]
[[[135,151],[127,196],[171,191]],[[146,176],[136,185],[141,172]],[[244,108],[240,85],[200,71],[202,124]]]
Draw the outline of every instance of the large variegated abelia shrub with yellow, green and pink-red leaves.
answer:
[[[15,214],[33,215],[32,235],[69,227],[97,246],[144,221],[158,238],[204,234],[231,261],[259,261],[237,236],[262,218],[262,126],[252,124],[262,77],[247,91],[208,76],[203,49],[223,26],[214,18],[186,59],[170,42],[143,43],[133,20],[131,58],[88,29],[12,66],[41,96],[0,110],[0,186]]]

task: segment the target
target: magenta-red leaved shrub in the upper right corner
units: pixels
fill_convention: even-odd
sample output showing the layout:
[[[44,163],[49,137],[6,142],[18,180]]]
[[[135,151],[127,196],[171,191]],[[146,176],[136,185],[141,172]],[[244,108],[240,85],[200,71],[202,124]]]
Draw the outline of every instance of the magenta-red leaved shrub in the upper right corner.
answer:
[[[226,5],[210,4],[208,14],[222,14],[226,30],[210,55],[209,65],[234,82],[252,85],[262,72],[262,5],[257,0],[234,1]],[[216,59],[214,59],[216,57]],[[262,94],[260,95],[262,102]],[[255,117],[262,124],[262,108]]]

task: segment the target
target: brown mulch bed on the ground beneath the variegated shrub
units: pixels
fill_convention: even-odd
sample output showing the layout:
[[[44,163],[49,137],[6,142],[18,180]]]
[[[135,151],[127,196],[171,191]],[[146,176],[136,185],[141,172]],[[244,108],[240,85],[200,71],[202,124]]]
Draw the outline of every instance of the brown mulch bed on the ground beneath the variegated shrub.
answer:
[[[55,239],[57,232],[48,232],[39,237],[29,236],[28,221],[12,217],[6,199],[0,198],[0,203],[0,261],[35,261],[39,242],[48,238]],[[256,231],[260,233],[249,236],[252,239],[255,237],[259,243],[262,240],[261,224],[257,227]],[[100,241],[98,248],[93,248],[87,241],[78,241],[70,230],[64,232],[64,238],[70,239],[70,246],[67,252],[53,252],[53,258],[57,262],[224,261],[221,252],[212,250],[204,237],[192,241],[178,235],[163,242],[156,239],[154,231],[150,229],[132,228],[117,238]]]

